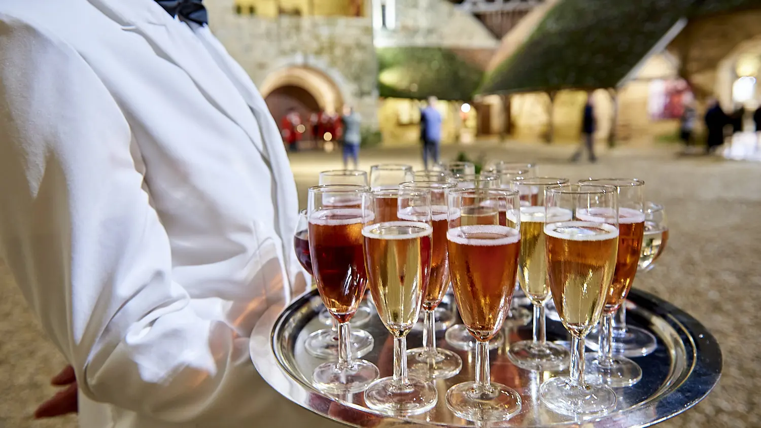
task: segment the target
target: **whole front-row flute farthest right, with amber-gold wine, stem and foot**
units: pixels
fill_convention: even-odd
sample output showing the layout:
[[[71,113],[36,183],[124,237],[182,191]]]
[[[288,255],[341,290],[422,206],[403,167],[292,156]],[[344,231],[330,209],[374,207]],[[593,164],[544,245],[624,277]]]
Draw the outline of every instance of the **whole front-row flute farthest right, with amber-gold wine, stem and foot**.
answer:
[[[616,394],[607,385],[584,379],[584,338],[600,320],[616,269],[616,189],[578,184],[548,187],[545,209],[547,282],[572,346],[569,376],[544,382],[540,399],[560,414],[605,413],[616,406]],[[574,216],[570,221],[568,212]],[[592,212],[597,215],[587,214]],[[600,219],[600,213],[609,213],[610,220]]]

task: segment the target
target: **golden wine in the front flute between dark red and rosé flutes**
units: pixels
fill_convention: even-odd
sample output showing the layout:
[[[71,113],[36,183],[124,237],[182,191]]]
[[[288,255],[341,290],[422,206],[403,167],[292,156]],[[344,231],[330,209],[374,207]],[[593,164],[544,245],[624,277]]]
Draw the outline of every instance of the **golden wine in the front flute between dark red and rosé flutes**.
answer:
[[[418,320],[431,267],[430,224],[388,221],[362,229],[368,285],[380,320],[403,336]]]

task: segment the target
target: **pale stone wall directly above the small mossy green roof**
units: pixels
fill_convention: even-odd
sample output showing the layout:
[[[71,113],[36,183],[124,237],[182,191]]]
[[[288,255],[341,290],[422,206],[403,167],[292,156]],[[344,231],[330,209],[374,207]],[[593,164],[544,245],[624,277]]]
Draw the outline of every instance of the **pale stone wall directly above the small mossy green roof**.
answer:
[[[497,38],[447,0],[396,0],[396,26],[377,30],[376,46],[496,48]]]

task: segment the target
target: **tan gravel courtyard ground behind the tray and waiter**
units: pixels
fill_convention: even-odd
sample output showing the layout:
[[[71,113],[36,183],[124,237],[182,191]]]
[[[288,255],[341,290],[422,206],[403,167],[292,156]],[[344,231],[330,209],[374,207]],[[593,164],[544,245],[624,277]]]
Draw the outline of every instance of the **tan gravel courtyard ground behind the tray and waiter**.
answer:
[[[661,424],[666,427],[761,426],[761,163],[680,156],[672,146],[619,147],[602,151],[595,164],[567,162],[569,146],[479,144],[444,147],[488,159],[530,160],[540,175],[636,176],[647,197],[667,207],[669,248],[659,265],[635,281],[699,319],[721,344],[724,372],[709,397],[694,409]],[[361,168],[374,163],[419,166],[416,147],[365,150]],[[317,172],[341,166],[339,154],[291,157],[301,204]],[[36,422],[30,414],[54,390],[49,377],[65,364],[44,338],[13,278],[0,264],[0,428],[73,427],[76,417]],[[252,423],[252,426],[255,426]]]

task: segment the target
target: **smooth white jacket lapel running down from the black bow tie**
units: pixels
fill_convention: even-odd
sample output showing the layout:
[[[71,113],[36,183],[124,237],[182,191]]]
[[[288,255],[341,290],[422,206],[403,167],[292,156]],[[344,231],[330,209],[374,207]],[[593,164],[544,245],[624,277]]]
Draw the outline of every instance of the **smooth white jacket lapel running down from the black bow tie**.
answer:
[[[90,0],[123,30],[138,33],[154,51],[182,68],[206,100],[246,132],[254,146],[263,151],[249,106],[235,85],[216,65],[193,30],[167,14],[154,0]]]

